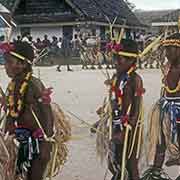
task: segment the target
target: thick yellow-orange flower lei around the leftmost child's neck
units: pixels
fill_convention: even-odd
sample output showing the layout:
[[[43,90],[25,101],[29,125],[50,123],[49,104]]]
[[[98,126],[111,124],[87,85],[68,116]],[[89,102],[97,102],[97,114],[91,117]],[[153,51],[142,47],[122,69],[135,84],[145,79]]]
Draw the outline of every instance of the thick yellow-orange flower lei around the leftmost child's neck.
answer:
[[[9,110],[8,114],[13,118],[19,117],[19,114],[23,110],[23,107],[24,107],[23,99],[24,99],[24,95],[27,91],[29,80],[31,79],[31,77],[32,77],[31,72],[26,74],[26,76],[21,84],[21,87],[19,89],[20,97],[18,97],[17,102],[15,102],[15,97],[14,97],[15,96],[15,94],[14,94],[15,86],[16,86],[15,81],[12,80],[8,85],[8,88],[7,88],[7,107]]]

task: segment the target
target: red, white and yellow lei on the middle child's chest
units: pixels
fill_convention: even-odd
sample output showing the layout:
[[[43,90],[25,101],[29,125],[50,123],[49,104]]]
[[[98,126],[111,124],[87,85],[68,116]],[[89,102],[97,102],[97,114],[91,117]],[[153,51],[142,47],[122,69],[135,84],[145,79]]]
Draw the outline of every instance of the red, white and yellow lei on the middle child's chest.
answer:
[[[112,82],[112,86],[111,86],[111,93],[112,93],[112,96],[111,96],[111,100],[114,101],[118,100],[118,105],[120,107],[120,109],[122,108],[121,105],[122,105],[122,98],[123,98],[123,91],[124,91],[124,87],[125,85],[127,84],[127,81],[130,77],[130,74],[136,69],[136,66],[133,65],[132,67],[130,67],[130,69],[123,75],[123,77],[121,78],[121,81],[120,81],[120,84],[119,84],[119,87],[118,87],[118,90],[116,90],[116,82],[117,82],[117,77],[115,77],[113,79],[113,82]]]

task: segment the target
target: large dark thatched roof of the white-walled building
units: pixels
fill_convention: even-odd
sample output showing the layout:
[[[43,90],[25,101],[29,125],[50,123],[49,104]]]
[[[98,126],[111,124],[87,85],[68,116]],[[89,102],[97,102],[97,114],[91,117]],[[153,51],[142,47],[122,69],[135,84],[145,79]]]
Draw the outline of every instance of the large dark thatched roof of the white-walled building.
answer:
[[[142,27],[124,0],[0,0],[9,8],[18,24],[95,21]]]

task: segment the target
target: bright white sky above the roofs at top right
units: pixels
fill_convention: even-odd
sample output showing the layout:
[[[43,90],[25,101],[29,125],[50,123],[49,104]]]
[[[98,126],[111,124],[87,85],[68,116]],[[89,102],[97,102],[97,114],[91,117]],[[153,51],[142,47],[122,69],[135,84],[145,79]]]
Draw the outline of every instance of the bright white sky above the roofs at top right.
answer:
[[[129,2],[134,3],[136,9],[180,9],[180,0],[129,0]]]

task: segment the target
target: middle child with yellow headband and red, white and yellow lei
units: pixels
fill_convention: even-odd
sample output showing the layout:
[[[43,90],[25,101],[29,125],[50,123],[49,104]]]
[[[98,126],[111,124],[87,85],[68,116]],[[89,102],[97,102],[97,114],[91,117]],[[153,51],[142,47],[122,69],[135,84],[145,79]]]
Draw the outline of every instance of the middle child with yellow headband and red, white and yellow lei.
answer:
[[[135,41],[123,39],[121,44],[116,44],[114,48],[116,73],[111,80],[106,82],[106,85],[110,86],[110,108],[108,108],[110,110],[108,110],[109,115],[107,116],[110,135],[109,143],[106,143],[109,144],[108,167],[113,174],[111,180],[121,178],[123,175],[121,172],[124,171],[123,163],[128,171],[129,179],[139,180],[138,147],[140,147],[141,138],[138,137],[142,134],[141,107],[144,88],[140,75],[136,73],[138,47]],[[98,113],[100,111],[103,111],[102,108]],[[106,123],[106,121],[104,122]],[[100,131],[101,124],[100,120],[98,127]],[[129,128],[131,132],[125,138]],[[101,137],[101,133],[97,132],[97,134]],[[130,149],[125,148],[126,143]],[[126,155],[123,154],[123,151],[126,152]]]

